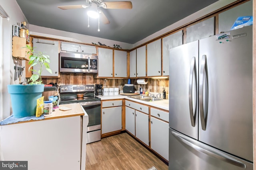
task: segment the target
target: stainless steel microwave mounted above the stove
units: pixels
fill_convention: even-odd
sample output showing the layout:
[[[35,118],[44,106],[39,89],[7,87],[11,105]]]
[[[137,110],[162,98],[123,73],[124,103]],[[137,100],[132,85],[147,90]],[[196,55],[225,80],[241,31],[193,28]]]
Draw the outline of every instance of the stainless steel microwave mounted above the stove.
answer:
[[[60,72],[97,73],[98,56],[60,52]]]

